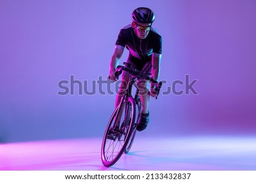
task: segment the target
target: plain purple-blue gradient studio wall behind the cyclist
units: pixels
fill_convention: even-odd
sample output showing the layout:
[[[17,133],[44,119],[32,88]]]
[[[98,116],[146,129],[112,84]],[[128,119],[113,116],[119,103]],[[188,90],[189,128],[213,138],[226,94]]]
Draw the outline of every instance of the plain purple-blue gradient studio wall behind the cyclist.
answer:
[[[57,83],[106,77],[139,6],[154,10],[163,36],[163,90],[199,79],[199,95],[152,99],[139,135],[255,134],[256,1],[2,0],[0,142],[102,137],[115,96],[60,96]]]

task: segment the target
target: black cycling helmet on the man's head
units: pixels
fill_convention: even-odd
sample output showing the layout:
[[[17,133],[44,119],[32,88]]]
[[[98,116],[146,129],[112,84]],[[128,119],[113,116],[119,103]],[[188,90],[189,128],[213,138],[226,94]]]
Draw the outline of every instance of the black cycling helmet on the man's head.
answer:
[[[131,14],[131,19],[137,23],[153,23],[155,20],[155,14],[147,7],[138,7]]]

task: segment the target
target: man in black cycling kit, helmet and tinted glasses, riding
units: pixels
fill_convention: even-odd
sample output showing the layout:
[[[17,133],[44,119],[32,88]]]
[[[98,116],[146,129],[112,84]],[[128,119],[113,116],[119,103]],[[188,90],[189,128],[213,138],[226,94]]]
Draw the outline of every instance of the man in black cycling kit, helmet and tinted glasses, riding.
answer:
[[[128,63],[133,68],[142,70],[143,66],[150,62],[152,64],[151,78],[158,81],[160,73],[160,60],[162,56],[162,36],[152,28],[152,23],[155,20],[155,14],[147,7],[139,7],[135,9],[131,15],[132,22],[128,26],[121,29],[119,32],[117,41],[115,43],[115,49],[110,61],[109,78],[112,81],[117,81],[115,77],[115,69],[119,65],[119,59],[123,54],[125,47],[129,50]],[[129,82],[129,73],[123,71],[122,84],[119,87],[117,98],[115,99],[115,107],[118,106],[121,101],[122,95],[127,88]],[[154,84],[150,85],[151,94],[148,95],[149,82],[138,81],[139,95],[142,103],[142,113],[139,118],[137,130],[142,131],[146,129],[148,122],[150,121],[148,104],[150,101],[150,95],[155,97],[156,92],[154,90]]]

